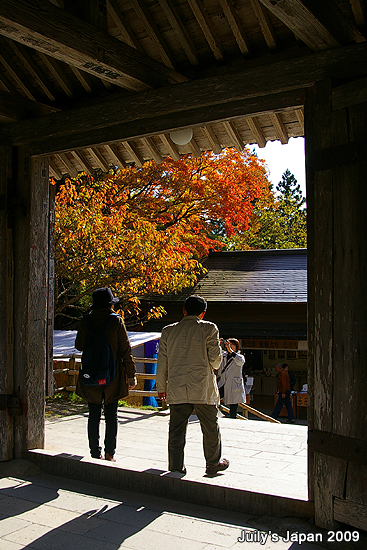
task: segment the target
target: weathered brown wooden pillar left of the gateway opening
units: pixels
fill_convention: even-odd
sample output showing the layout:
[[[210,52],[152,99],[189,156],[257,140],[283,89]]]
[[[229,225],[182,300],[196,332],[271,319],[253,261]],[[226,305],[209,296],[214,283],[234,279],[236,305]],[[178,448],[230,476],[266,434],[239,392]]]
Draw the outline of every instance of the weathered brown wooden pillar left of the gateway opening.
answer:
[[[13,382],[23,415],[14,418],[14,458],[44,445],[49,239],[48,159],[31,158],[26,148],[17,152]]]

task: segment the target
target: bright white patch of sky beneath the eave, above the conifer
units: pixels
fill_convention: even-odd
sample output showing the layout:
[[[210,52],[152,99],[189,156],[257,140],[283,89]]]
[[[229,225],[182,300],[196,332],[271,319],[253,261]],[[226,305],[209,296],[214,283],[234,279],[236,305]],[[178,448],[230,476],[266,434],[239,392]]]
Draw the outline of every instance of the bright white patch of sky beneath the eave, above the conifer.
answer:
[[[288,168],[306,196],[304,141],[304,138],[290,138],[288,145],[282,145],[280,141],[268,141],[266,147],[261,149],[257,145],[250,145],[251,150],[254,148],[258,157],[266,161],[274,189]]]

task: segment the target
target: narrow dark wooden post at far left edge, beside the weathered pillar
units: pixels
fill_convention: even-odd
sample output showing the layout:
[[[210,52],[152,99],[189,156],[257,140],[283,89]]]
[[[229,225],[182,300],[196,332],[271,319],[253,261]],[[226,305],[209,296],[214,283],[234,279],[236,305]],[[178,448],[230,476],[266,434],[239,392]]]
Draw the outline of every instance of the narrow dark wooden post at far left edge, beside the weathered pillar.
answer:
[[[0,147],[0,393],[13,393],[13,252],[9,209],[12,181],[11,147]],[[14,421],[0,411],[0,461],[13,458]]]

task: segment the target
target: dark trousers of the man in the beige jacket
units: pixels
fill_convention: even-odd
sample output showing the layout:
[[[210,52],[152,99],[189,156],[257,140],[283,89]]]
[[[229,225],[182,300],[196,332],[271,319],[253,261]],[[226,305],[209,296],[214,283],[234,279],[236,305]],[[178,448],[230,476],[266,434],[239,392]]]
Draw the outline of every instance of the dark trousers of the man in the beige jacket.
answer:
[[[190,416],[195,414],[199,419],[203,434],[203,448],[206,464],[218,464],[222,452],[221,437],[218,426],[217,407],[215,405],[195,405],[180,403],[170,405],[170,422],[168,435],[168,469],[184,469],[184,448],[186,430]]]

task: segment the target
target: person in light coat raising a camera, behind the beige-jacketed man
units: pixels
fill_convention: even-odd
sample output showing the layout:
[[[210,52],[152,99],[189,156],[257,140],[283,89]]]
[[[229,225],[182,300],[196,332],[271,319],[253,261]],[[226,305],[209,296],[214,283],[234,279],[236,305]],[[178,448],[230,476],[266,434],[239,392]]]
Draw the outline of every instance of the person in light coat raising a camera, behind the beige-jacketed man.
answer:
[[[236,338],[223,341],[222,362],[218,371],[218,388],[224,403],[229,406],[229,416],[237,418],[238,403],[246,403],[245,386],[243,384],[242,367],[244,356],[240,353],[240,343]]]

